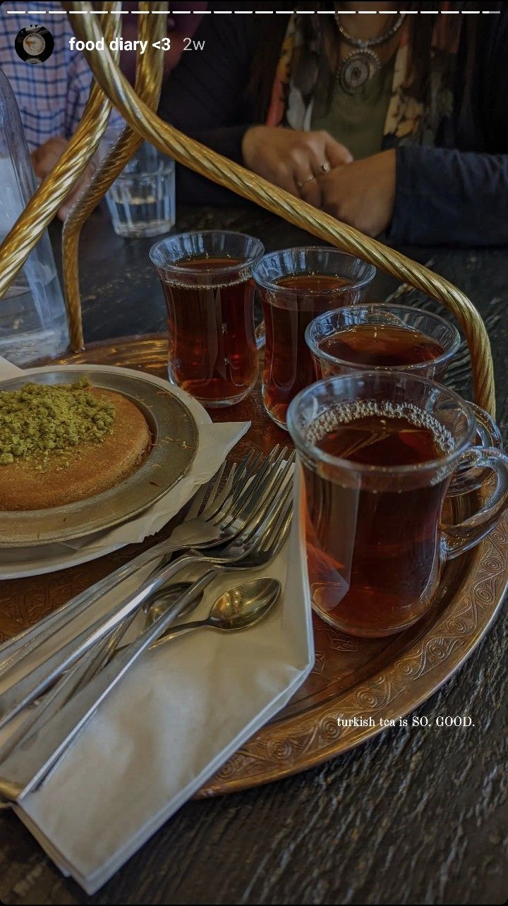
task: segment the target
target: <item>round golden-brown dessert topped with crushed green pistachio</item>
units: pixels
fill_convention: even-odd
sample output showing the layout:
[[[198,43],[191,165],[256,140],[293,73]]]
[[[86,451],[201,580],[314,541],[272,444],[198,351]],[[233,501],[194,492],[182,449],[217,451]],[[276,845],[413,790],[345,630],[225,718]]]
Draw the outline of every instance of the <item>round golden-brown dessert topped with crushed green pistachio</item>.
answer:
[[[0,510],[63,506],[118,485],[151,447],[147,421],[111,390],[27,383],[0,391]]]

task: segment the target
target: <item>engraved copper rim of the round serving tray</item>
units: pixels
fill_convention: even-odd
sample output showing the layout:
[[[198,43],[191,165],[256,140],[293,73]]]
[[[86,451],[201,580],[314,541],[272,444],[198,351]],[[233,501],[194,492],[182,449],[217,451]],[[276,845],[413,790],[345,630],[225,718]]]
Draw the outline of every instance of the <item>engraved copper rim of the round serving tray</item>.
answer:
[[[129,355],[127,367],[135,367],[134,360],[149,371],[165,361],[168,339],[164,334],[145,334],[93,343],[86,352],[63,361],[87,361],[108,349],[119,359],[122,353]],[[234,793],[298,774],[383,732],[379,727],[339,729],[336,718],[348,710],[352,716],[361,707],[365,716],[397,720],[434,695],[473,653],[501,609],[508,588],[508,514],[467,558],[454,595],[436,622],[402,656],[329,701],[275,718],[238,749],[195,798]]]

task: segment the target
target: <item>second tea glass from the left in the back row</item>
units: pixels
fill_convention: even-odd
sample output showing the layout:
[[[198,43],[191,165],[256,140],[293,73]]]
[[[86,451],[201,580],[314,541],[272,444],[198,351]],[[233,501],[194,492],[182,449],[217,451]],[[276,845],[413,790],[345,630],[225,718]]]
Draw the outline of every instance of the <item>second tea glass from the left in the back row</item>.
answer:
[[[321,312],[362,302],[375,274],[359,258],[321,246],[271,252],[254,266],[266,338],[264,408],[281,428],[293,397],[315,380],[308,324]]]

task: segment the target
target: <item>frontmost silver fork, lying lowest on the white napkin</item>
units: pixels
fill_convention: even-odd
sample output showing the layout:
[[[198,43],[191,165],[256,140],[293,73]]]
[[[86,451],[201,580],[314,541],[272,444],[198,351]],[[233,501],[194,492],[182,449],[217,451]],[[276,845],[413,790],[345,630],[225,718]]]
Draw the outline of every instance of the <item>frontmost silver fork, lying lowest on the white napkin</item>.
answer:
[[[53,771],[68,751],[72,741],[81,733],[101,702],[110,693],[131,665],[156,641],[177,616],[186,609],[189,597],[196,595],[197,590],[204,589],[218,573],[230,570],[252,569],[270,563],[281,551],[289,533],[292,519],[292,499],[288,485],[267,514],[265,523],[260,526],[255,539],[245,546],[242,560],[224,561],[214,564],[213,558],[206,557],[210,567],[196,583],[185,593],[168,613],[163,613],[137,639],[121,649],[113,660],[96,675],[75,697],[66,700],[59,707],[58,700],[52,700],[44,715],[43,727],[31,732],[28,737],[16,739],[16,746],[10,750],[0,766],[0,794],[8,799],[17,799],[21,795],[40,786]],[[174,564],[173,564],[174,565]],[[89,651],[83,659],[96,657],[96,651]]]

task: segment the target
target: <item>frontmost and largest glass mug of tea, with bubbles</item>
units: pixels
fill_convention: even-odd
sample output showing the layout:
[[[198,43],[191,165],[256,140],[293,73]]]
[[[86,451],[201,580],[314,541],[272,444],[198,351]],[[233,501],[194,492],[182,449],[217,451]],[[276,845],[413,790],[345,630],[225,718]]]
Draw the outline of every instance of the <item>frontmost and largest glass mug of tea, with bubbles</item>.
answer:
[[[303,467],[313,607],[352,635],[416,622],[446,560],[508,507],[508,458],[474,447],[469,405],[426,378],[380,370],[319,381],[292,401],[288,428]],[[495,487],[474,516],[445,526],[446,492],[465,466],[494,473]]]

